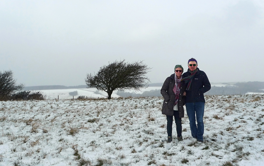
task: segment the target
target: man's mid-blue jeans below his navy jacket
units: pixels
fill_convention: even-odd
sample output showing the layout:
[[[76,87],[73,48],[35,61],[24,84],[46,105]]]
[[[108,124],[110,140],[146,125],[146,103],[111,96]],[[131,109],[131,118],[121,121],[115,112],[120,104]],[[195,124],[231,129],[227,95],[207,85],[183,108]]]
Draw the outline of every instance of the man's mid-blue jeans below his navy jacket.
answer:
[[[192,137],[203,141],[204,121],[202,118],[204,117],[204,102],[186,103],[185,106],[190,121]],[[197,126],[195,120],[197,121]]]

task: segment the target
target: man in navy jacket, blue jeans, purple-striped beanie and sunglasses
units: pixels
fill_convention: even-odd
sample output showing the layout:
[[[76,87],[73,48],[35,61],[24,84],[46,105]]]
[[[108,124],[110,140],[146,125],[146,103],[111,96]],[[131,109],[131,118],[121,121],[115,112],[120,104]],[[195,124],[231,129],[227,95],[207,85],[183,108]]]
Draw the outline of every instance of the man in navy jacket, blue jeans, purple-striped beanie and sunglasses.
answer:
[[[194,58],[188,60],[188,71],[182,77],[186,86],[185,106],[190,121],[192,137],[199,142],[204,138],[204,93],[211,89],[211,84],[205,72],[197,68],[197,61]],[[196,117],[195,117],[196,114]],[[197,126],[195,119],[197,120]]]

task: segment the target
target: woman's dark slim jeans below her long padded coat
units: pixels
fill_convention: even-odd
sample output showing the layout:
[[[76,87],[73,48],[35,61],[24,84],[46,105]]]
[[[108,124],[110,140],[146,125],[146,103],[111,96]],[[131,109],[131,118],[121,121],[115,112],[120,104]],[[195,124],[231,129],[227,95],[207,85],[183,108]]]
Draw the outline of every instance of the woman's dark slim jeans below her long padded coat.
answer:
[[[179,112],[178,111],[173,111],[173,116],[175,119],[175,123],[176,123],[176,131],[177,131],[177,137],[182,136],[182,126],[181,126],[181,118],[179,117]],[[167,117],[167,133],[168,133],[168,137],[172,136],[172,122],[173,122],[173,116],[168,116]]]

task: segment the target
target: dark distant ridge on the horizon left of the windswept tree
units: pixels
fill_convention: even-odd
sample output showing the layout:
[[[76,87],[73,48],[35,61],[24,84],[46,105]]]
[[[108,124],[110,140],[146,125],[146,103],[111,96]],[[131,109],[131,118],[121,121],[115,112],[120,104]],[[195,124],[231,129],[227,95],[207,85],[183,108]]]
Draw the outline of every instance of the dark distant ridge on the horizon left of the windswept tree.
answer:
[[[87,85],[63,86],[63,85],[44,85],[44,86],[26,86],[23,90],[49,90],[49,89],[80,89],[87,88]]]

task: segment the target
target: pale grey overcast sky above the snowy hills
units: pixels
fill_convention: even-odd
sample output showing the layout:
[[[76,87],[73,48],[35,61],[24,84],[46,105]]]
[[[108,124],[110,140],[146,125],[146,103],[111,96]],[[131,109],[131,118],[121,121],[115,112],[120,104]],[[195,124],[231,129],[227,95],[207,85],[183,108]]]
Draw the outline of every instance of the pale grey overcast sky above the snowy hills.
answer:
[[[264,81],[264,1],[0,1],[0,70],[25,86],[85,85],[123,59],[164,82],[190,58],[210,82]]]

